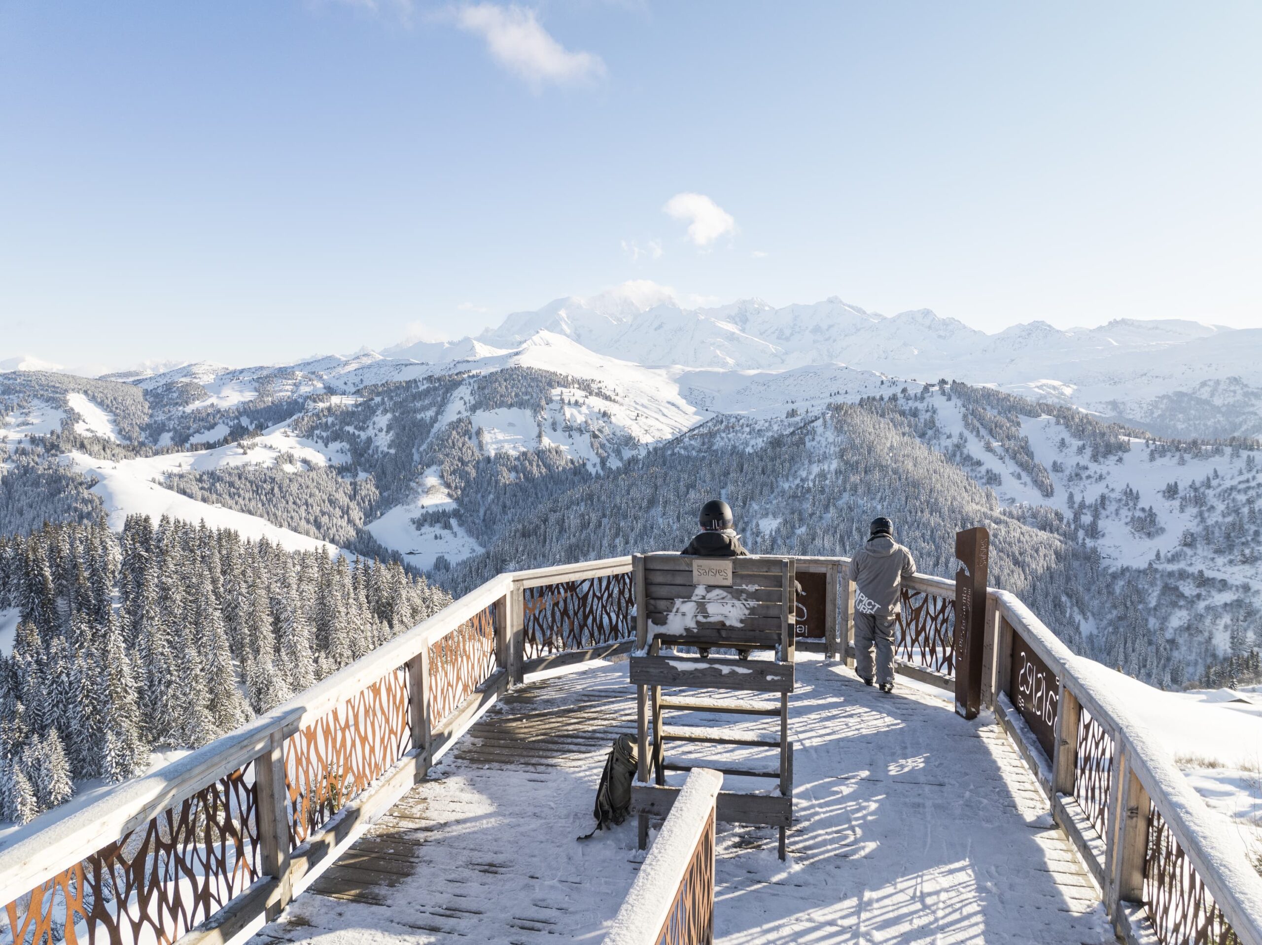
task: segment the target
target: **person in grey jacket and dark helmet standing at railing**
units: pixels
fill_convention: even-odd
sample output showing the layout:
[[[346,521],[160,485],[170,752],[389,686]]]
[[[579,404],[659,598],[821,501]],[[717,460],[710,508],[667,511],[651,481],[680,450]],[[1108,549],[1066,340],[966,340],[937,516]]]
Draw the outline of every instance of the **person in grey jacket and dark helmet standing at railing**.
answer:
[[[893,633],[902,612],[902,582],[916,573],[911,551],[893,540],[893,522],[873,519],[867,544],[851,559],[854,582],[854,671],[893,691]],[[876,650],[876,667],[872,651]]]

